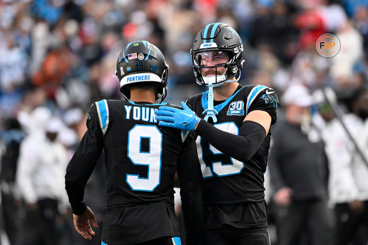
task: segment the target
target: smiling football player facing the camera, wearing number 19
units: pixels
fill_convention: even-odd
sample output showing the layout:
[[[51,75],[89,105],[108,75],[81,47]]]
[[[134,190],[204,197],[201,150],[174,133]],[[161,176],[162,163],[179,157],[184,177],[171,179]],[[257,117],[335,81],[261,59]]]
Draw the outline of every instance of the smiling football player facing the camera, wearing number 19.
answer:
[[[278,98],[266,86],[237,82],[243,45],[229,25],[206,25],[190,52],[197,83],[209,91],[182,102],[184,110],[161,106],[155,113],[159,125],[198,135],[204,244],[269,245],[263,173]]]

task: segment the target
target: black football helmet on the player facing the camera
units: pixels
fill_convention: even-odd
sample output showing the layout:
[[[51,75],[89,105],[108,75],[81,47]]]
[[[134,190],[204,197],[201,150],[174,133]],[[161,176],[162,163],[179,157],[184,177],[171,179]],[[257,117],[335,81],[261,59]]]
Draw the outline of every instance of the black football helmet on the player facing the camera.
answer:
[[[192,56],[194,76],[198,84],[208,85],[212,82],[213,87],[221,86],[224,82],[235,82],[240,78],[243,68],[243,44],[240,36],[229,25],[223,23],[212,23],[200,30],[194,39],[193,47],[190,49]],[[223,60],[213,66],[208,66],[204,59]],[[226,57],[226,60],[223,59]],[[229,57],[227,59],[227,57]],[[217,74],[219,67],[224,67],[223,74]],[[203,68],[213,68],[215,73],[203,75]],[[223,68],[222,68],[223,69]],[[239,74],[236,80],[230,78]]]

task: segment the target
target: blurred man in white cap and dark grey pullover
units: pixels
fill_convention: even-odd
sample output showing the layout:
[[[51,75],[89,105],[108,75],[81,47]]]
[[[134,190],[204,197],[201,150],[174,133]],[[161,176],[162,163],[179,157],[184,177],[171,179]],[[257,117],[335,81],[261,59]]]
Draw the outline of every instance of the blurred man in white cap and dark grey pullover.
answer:
[[[324,145],[310,125],[312,97],[302,85],[290,86],[283,97],[286,121],[272,132],[269,155],[271,186],[275,188],[279,245],[331,243],[327,209],[327,159]],[[286,133],[287,132],[287,133]]]

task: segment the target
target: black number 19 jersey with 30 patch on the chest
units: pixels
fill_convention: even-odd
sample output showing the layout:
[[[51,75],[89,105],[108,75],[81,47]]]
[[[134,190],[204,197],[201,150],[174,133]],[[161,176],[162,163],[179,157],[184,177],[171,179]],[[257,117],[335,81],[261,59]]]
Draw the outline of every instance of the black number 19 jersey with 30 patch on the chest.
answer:
[[[187,104],[201,118],[208,107],[208,91],[195,95]],[[276,122],[278,98],[273,89],[261,85],[241,87],[224,102],[214,106],[217,122],[209,123],[229,133],[238,134],[245,116],[254,110],[262,110]],[[223,154],[209,142],[197,137],[197,153],[204,178],[204,203],[207,205],[236,204],[264,200],[264,172],[267,166],[270,132],[261,147],[247,162],[240,162]],[[231,143],[229,143],[231,144]]]

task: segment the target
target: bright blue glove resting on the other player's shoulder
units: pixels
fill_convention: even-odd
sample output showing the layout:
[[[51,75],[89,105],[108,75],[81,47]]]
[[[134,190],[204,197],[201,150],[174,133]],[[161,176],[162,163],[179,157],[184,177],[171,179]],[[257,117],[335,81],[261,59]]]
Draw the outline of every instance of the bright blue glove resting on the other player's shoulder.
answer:
[[[200,118],[183,101],[182,107],[184,110],[160,106],[158,110],[155,110],[155,118],[159,121],[158,125],[194,131]]]

